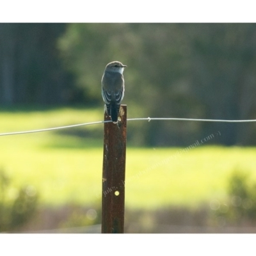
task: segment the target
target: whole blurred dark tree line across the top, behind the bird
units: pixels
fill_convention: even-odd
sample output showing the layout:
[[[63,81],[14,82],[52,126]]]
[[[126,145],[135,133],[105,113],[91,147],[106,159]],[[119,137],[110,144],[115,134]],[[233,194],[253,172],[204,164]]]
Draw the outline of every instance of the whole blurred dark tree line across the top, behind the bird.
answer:
[[[256,119],[255,24],[0,24],[0,103],[102,105],[122,61],[132,117]],[[133,126],[132,126],[133,125]],[[255,145],[255,124],[131,124],[139,145]]]

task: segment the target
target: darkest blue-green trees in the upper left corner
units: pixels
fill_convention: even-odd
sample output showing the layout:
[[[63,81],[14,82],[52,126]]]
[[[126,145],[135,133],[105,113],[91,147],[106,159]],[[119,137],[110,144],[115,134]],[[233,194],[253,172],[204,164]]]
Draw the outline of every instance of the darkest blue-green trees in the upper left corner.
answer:
[[[0,103],[70,100],[72,79],[56,48],[66,24],[0,24]]]

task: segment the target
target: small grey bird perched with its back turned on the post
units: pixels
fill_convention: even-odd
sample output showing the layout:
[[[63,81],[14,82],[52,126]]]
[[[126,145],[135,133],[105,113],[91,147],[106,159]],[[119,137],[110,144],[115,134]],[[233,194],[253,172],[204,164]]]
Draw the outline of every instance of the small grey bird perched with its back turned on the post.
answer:
[[[101,79],[102,98],[113,123],[117,123],[120,104],[124,98],[123,72],[126,67],[119,61],[110,62]]]

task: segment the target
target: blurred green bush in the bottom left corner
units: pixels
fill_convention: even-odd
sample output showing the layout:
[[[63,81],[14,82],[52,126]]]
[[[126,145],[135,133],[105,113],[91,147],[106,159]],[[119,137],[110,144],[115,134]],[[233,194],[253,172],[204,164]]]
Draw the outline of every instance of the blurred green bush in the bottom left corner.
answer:
[[[6,172],[0,170],[0,232],[12,232],[33,216],[38,195],[33,186],[12,186]]]

